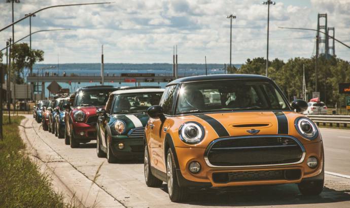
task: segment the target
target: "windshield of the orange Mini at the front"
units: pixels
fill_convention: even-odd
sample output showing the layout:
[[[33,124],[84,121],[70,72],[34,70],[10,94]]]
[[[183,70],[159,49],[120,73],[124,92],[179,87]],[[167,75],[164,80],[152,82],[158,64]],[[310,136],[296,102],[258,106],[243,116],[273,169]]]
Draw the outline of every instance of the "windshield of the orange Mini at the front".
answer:
[[[266,81],[222,80],[181,86],[177,114],[240,110],[290,109],[275,86]]]

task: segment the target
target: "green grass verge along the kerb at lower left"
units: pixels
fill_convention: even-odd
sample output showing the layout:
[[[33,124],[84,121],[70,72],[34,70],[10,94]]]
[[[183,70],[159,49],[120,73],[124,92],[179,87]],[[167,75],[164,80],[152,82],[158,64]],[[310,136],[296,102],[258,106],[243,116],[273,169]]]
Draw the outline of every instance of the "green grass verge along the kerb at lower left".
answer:
[[[4,140],[0,140],[0,207],[72,207],[53,191],[50,178],[24,153],[18,125],[24,117],[4,116]]]

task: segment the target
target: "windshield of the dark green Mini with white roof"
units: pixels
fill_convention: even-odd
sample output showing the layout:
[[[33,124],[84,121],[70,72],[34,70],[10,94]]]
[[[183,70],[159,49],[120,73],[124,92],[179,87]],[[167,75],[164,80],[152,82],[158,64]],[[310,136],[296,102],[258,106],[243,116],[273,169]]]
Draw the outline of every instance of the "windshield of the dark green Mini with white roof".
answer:
[[[119,94],[115,98],[112,114],[145,112],[150,106],[159,105],[162,92]]]

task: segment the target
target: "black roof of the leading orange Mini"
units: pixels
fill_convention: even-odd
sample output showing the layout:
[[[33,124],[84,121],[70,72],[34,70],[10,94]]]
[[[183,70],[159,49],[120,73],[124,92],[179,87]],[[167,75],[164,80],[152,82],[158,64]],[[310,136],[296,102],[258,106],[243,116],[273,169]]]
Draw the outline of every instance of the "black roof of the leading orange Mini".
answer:
[[[183,82],[196,82],[196,81],[211,81],[211,80],[233,80],[233,79],[258,79],[270,81],[270,78],[261,75],[244,75],[244,74],[229,74],[229,75],[200,75],[193,77],[184,77],[171,81],[166,86],[176,85]]]

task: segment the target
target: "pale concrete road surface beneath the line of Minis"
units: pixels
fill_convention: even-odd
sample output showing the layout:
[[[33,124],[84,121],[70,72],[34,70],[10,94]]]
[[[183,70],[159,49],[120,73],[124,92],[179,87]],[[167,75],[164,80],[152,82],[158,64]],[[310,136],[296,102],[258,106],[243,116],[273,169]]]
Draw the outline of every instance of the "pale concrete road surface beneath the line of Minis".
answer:
[[[98,206],[118,207],[197,207],[197,206],[289,206],[289,207],[350,207],[350,130],[322,128],[325,145],[325,188],[320,196],[302,196],[296,185],[235,187],[229,189],[193,190],[189,200],[173,203],[166,185],[149,188],[145,184],[143,161],[108,164],[96,156],[96,143],[83,144],[78,149],[64,145],[64,140],[43,131],[30,116],[24,132],[38,151],[38,156],[55,170],[66,186],[79,195],[86,189],[83,182],[95,181],[99,190]],[[52,156],[54,155],[54,156]],[[97,179],[96,170],[102,164]],[[69,166],[69,167],[68,167]],[[73,167],[73,168],[71,168]],[[69,169],[70,168],[70,169]],[[334,176],[348,175],[349,179]],[[84,176],[84,177],[82,177]],[[76,178],[75,178],[76,177]],[[88,188],[87,188],[88,189]],[[94,192],[95,194],[95,192]],[[103,195],[104,194],[104,195]],[[88,194],[89,195],[89,194]],[[90,193],[89,197],[97,197]],[[104,203],[111,198],[110,202]]]

